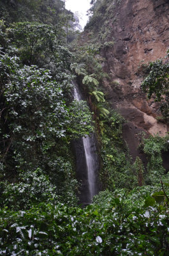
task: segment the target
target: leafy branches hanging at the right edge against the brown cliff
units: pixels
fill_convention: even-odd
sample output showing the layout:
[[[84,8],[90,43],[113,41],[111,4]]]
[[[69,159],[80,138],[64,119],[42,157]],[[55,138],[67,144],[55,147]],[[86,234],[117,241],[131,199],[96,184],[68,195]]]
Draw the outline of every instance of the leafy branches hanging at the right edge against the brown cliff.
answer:
[[[168,55],[166,56],[168,58]],[[169,63],[168,60],[156,60],[149,65],[149,76],[142,83],[143,91],[148,99],[154,95],[155,100],[161,102],[161,113],[168,122],[169,118]]]

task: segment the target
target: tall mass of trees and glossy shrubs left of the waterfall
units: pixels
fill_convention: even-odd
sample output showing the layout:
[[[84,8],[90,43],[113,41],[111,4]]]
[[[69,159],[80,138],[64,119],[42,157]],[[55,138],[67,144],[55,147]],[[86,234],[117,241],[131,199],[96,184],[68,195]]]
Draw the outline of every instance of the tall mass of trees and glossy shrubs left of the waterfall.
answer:
[[[9,13],[17,15],[28,2],[17,1]],[[37,4],[29,6],[33,13],[44,4],[31,3]],[[71,103],[73,54],[65,46],[65,12],[60,13],[62,17],[55,25],[50,24],[48,14],[49,24],[34,20],[4,26],[0,22],[1,207],[13,211],[30,209],[41,202],[56,204],[58,196],[68,205],[77,204],[70,141],[89,134],[93,128],[87,104]],[[67,18],[69,21],[70,16]]]

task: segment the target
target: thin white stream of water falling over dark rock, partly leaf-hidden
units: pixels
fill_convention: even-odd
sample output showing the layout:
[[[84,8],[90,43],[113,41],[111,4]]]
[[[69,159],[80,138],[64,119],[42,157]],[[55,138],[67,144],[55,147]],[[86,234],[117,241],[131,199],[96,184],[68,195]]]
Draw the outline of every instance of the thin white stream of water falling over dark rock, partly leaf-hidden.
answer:
[[[80,93],[78,92],[78,88],[74,88],[74,99],[82,100]],[[82,138],[85,152],[85,161],[87,166],[87,179],[89,185],[89,201],[91,203],[92,197],[96,195],[96,157],[94,157],[92,150],[92,139],[90,136],[85,136]]]

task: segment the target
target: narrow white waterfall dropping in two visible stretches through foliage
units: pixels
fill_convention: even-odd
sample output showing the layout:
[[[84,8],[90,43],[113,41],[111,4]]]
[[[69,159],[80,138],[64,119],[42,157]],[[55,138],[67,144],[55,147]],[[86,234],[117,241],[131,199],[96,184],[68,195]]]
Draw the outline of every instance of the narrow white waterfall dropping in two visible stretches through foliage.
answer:
[[[82,97],[80,95],[80,92],[78,92],[78,88],[76,84],[74,88],[74,99],[82,100]],[[98,192],[97,181],[96,181],[98,159],[96,157],[96,146],[94,145],[94,140],[92,136],[83,137],[82,144],[84,147],[86,172],[87,172],[87,185],[88,185],[88,193],[87,191],[85,192],[85,197],[86,197],[85,204],[90,204],[92,201],[92,197],[96,195],[96,193]]]

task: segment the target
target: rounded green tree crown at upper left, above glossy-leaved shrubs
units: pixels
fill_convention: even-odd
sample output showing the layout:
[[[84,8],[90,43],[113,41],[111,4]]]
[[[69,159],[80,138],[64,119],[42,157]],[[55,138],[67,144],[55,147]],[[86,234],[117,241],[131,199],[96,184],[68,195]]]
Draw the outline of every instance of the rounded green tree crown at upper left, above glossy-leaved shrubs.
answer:
[[[11,26],[12,28],[8,28],[8,35],[24,64],[44,65],[50,62],[61,37],[57,28],[31,22],[18,22]]]

